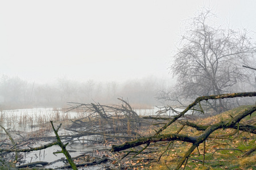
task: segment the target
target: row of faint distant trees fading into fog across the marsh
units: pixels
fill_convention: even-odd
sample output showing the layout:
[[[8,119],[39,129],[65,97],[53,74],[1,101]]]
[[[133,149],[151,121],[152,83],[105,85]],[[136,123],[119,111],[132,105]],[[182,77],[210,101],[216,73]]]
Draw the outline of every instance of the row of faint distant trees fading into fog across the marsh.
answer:
[[[18,76],[0,76],[0,109],[67,107],[67,102],[115,104],[123,97],[135,107],[157,104],[155,96],[166,80],[148,76],[118,82],[76,81],[59,78],[55,83],[38,84]]]

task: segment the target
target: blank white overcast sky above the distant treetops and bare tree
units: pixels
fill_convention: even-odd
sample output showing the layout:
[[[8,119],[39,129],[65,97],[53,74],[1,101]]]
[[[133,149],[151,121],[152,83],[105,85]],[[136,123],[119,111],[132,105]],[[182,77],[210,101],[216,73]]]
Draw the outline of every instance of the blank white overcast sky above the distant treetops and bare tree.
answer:
[[[202,6],[256,30],[253,0],[0,0],[0,74],[39,83],[167,77],[181,23]]]

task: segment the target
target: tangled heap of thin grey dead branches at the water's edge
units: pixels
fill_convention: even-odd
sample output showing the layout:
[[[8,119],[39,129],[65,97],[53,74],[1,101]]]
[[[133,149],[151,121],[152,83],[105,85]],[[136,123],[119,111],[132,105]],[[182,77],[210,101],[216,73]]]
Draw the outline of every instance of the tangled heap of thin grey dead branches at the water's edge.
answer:
[[[74,122],[74,126],[81,126],[85,128],[85,131],[92,131],[92,128],[97,127],[103,131],[116,131],[123,130],[129,133],[130,130],[138,130],[143,124],[150,124],[148,121],[140,118],[138,114],[133,111],[131,105],[122,99],[121,105],[101,105],[99,103],[94,104],[81,104],[81,103],[69,103],[72,109],[81,110],[86,116],[86,121]]]

